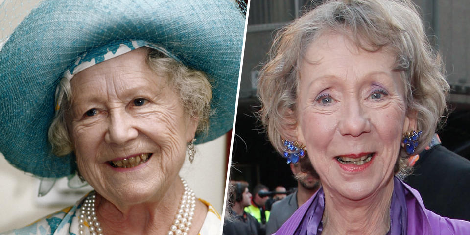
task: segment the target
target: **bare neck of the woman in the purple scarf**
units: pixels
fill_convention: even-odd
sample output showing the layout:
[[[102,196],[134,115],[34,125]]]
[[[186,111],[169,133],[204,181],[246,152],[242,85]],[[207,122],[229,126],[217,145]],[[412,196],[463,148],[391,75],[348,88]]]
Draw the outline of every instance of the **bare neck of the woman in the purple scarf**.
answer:
[[[390,229],[393,177],[384,188],[359,201],[331,194],[325,188],[322,235],[377,235]]]

